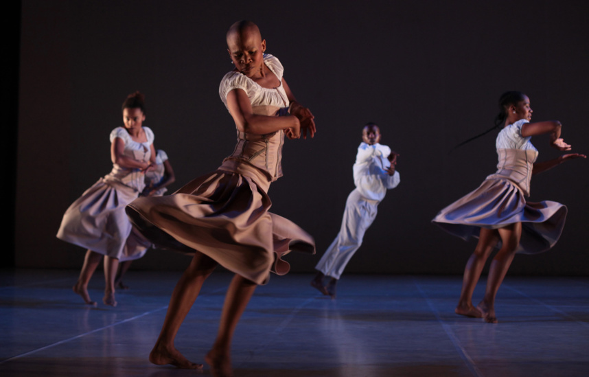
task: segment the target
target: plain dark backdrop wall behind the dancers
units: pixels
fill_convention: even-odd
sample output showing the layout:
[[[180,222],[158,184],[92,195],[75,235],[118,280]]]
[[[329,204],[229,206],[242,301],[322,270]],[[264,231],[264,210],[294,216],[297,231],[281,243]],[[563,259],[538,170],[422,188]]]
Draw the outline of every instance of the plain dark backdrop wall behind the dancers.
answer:
[[[401,183],[379,206],[349,273],[461,273],[474,242],[430,223],[494,172],[489,134],[501,93],[524,91],[535,120],[559,119],[589,152],[586,1],[44,1],[23,0],[16,160],[17,267],[80,268],[84,251],[55,238],[65,209],[111,170],[108,134],[128,93],[146,95],[155,146],[176,190],[233,150],[235,126],[218,95],[232,69],[224,35],[255,21],[292,91],[316,117],[312,140],[289,141],[273,212],[316,238],[318,255],[290,255],[312,271],[340,227],[366,122],[400,153]],[[558,152],[533,140],[540,161]],[[14,166],[14,161],[8,161]],[[535,176],[531,201],[568,206],[562,238],[520,255],[512,274],[587,275],[589,161]],[[135,269],[183,269],[154,250]]]

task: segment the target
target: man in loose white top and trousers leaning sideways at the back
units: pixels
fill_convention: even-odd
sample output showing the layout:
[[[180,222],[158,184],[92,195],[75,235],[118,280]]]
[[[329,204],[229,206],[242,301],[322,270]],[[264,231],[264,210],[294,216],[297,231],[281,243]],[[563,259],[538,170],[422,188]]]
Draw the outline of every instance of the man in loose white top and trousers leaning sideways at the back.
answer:
[[[380,129],[369,123],[362,129],[362,143],[354,163],[354,189],[347,197],[338,236],[325,251],[315,269],[319,271],[311,285],[323,295],[336,296],[336,284],[345,266],[362,244],[364,233],[376,218],[378,203],[386,190],[397,187],[400,174],[395,170],[397,153],[379,144]],[[331,277],[327,286],[325,276]]]

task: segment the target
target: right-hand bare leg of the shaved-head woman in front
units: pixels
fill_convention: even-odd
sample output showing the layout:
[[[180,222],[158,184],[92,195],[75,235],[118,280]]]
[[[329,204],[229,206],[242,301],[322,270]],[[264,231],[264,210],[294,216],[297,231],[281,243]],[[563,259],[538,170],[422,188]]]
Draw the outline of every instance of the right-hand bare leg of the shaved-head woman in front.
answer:
[[[233,332],[242,316],[256,284],[240,275],[235,275],[227,290],[227,296],[223,304],[223,312],[219,325],[217,339],[211,350],[205,356],[205,361],[211,367],[211,373],[215,377],[231,377],[231,340]]]

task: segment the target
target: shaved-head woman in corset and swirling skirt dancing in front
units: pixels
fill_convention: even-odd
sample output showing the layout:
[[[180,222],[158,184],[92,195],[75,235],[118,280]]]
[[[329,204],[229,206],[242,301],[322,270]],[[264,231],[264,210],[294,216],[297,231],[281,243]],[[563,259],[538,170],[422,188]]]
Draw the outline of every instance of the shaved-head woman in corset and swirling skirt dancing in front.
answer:
[[[285,136],[313,137],[314,117],[290,91],[277,58],[250,21],[227,32],[235,68],[219,94],[237,128],[237,145],[214,172],[168,196],[139,198],[127,207],[132,222],[158,247],[194,253],[168,307],[150,354],[154,364],[200,369],[174,347],[174,339],[205,279],[218,264],[235,273],[227,290],[218,336],[205,356],[213,376],[232,376],[231,340],[257,284],[270,271],[288,272],[281,258],[292,250],[314,253],[313,238],[286,218],[268,212],[270,183],[282,176]],[[290,116],[288,116],[290,115]]]

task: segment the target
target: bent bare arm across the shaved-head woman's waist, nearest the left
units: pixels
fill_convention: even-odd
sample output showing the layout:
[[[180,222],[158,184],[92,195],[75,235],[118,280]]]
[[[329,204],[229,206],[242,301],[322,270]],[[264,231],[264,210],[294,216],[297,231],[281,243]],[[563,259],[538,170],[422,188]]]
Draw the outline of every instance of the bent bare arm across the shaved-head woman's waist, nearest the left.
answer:
[[[242,89],[233,89],[227,93],[227,107],[235,121],[238,130],[254,135],[266,135],[285,128],[295,130],[300,135],[300,122],[297,117],[273,117],[256,115],[251,108],[251,102]]]

